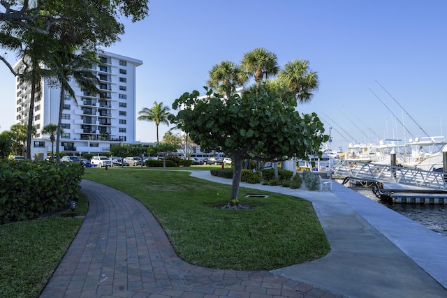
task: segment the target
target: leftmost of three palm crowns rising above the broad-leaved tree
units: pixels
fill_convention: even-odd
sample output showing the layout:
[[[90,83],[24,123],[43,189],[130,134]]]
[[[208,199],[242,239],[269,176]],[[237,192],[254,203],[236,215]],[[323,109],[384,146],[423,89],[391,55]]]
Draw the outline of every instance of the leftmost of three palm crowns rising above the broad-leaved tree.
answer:
[[[247,80],[247,73],[244,73],[239,65],[222,61],[211,68],[207,84],[229,98],[237,86],[242,86]]]

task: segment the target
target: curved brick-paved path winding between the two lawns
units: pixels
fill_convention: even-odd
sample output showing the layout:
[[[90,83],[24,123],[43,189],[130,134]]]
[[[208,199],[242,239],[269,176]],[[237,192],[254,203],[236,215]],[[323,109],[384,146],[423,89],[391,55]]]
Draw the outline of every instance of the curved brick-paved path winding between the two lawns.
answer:
[[[190,265],[138,200],[92,181],[81,186],[89,211],[41,298],[342,297],[268,271]]]

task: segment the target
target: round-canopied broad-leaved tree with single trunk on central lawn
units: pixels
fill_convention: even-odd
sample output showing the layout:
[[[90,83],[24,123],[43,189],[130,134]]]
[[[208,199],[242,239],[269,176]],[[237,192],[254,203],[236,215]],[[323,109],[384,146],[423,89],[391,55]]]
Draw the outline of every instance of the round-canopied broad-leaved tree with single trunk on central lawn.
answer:
[[[233,158],[230,202],[239,202],[244,159],[273,161],[284,156],[305,156],[318,151],[328,140],[316,114],[300,114],[293,100],[280,98],[272,89],[261,88],[257,94],[247,92],[228,98],[205,89],[205,97],[192,91],[177,98],[173,108],[182,110],[170,120],[200,148],[220,148]]]

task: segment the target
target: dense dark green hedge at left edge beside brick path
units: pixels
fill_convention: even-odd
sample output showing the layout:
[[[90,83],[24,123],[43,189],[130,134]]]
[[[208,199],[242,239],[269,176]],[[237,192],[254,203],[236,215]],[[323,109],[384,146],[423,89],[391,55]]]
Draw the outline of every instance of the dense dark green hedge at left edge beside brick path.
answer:
[[[80,163],[0,161],[0,224],[37,218],[78,200]]]

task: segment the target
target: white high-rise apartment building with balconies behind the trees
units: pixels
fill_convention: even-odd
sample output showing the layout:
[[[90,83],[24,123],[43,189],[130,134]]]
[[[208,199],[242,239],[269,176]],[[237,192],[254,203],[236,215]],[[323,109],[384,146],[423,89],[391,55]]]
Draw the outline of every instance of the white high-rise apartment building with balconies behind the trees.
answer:
[[[110,151],[110,144],[135,142],[135,82],[136,68],[142,61],[110,52],[98,52],[101,66],[93,68],[99,79],[99,93],[83,91],[74,81],[71,87],[75,98],[66,95],[62,112],[59,151],[66,154],[101,154]],[[24,67],[21,61],[15,70]],[[28,123],[31,84],[17,78],[16,123]],[[34,126],[37,133],[32,140],[31,156],[43,159],[51,152],[49,135],[41,133],[47,124],[57,124],[60,89],[45,79],[34,103]]]

